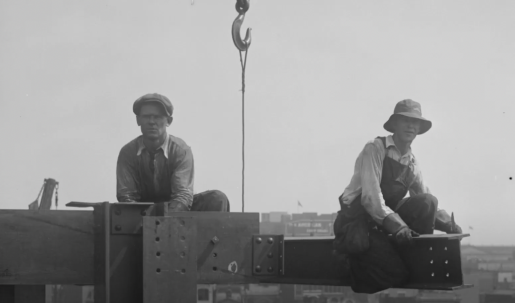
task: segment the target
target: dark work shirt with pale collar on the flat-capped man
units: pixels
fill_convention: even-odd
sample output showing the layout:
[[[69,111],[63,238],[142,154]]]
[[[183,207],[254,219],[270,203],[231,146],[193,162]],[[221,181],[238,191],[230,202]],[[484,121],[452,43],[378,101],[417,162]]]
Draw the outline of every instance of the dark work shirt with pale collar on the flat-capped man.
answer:
[[[182,139],[167,134],[155,153],[143,136],[127,143],[116,164],[116,198],[119,202],[178,201],[191,208],[194,183],[193,154]]]

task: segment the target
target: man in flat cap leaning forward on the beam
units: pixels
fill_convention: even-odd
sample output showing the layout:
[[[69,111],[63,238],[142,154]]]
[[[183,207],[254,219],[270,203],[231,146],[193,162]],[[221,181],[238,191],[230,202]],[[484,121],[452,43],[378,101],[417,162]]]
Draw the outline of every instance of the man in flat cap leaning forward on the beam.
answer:
[[[146,94],[132,110],[141,136],[127,143],[118,155],[118,202],[168,203],[168,211],[230,211],[227,196],[218,190],[193,193],[193,154],[182,139],[166,131],[174,107],[163,95]]]

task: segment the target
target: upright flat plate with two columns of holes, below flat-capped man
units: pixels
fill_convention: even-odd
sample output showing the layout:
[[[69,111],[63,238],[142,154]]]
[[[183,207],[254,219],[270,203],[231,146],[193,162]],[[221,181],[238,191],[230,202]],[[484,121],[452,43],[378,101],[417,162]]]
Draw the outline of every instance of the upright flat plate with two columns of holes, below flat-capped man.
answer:
[[[144,217],[144,303],[196,303],[196,235],[192,216]]]

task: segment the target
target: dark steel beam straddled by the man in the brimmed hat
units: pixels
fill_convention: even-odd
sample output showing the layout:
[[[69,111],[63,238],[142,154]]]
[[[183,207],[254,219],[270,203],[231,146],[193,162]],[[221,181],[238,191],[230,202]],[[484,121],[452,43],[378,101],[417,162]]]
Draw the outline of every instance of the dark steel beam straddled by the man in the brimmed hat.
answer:
[[[403,260],[410,272],[409,281],[402,288],[455,290],[470,287],[464,285],[461,271],[460,240],[467,236],[434,234],[416,238],[415,245],[402,250]],[[348,286],[349,278],[341,272],[332,254],[333,239],[285,238],[283,274],[259,277],[260,282]]]

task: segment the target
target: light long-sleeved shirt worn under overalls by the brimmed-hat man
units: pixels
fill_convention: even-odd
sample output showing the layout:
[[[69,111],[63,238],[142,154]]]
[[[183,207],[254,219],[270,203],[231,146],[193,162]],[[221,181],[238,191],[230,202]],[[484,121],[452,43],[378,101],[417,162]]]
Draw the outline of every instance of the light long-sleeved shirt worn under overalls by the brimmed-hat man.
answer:
[[[391,135],[384,139],[386,148],[381,138],[369,141],[365,145],[356,159],[354,175],[341,196],[341,203],[349,205],[361,195],[361,204],[372,219],[380,225],[383,224],[386,216],[394,213],[394,210],[386,205],[381,191],[385,157],[408,167],[406,172],[409,173],[399,176],[398,181],[408,188],[410,196],[431,193],[424,184],[420,166],[411,153],[411,148],[406,154],[401,155]]]

